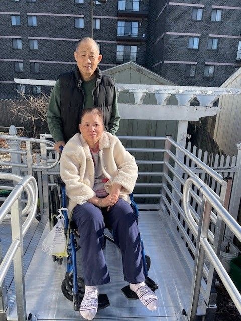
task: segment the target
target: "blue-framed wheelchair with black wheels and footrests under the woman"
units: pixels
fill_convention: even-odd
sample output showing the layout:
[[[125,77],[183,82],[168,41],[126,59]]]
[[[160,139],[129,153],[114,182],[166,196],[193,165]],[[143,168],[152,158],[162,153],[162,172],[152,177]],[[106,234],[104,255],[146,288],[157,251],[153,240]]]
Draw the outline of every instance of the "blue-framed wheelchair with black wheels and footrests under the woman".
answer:
[[[66,208],[66,193],[65,193],[65,183],[62,181],[60,175],[54,176],[54,181],[56,185],[60,188],[60,200],[59,200],[59,194],[58,189],[56,186],[51,187],[49,190],[49,221],[50,221],[50,228],[52,228],[55,224],[55,218],[52,220],[52,216],[54,214],[58,215],[58,209],[61,207]],[[134,211],[134,214],[136,214],[137,221],[138,221],[138,208],[134,201],[133,195],[130,195],[131,199],[131,206]],[[65,222],[65,233],[67,236],[67,233],[69,232],[69,238],[68,238],[68,244],[67,244],[67,267],[66,267],[66,273],[65,278],[61,284],[61,290],[63,292],[63,295],[69,300],[73,302],[73,307],[75,311],[78,311],[80,309],[80,304],[83,299],[84,293],[85,293],[85,285],[84,280],[77,276],[77,262],[76,262],[76,252],[80,249],[80,246],[77,244],[77,238],[78,235],[75,232],[76,227],[73,226],[73,222],[70,222],[70,228],[68,231],[69,226],[69,218],[67,215],[67,211],[63,210],[64,215],[64,222]],[[52,224],[51,224],[52,222]],[[109,229],[110,235],[113,236],[113,232],[110,227],[106,227]],[[107,235],[104,233],[104,245],[105,247],[106,240],[115,243],[113,237]],[[142,262],[144,267],[144,274],[145,274],[145,283],[155,292],[158,289],[158,285],[148,277],[148,271],[150,269],[151,260],[150,257],[145,255],[144,251],[144,245],[143,241],[141,239],[141,248],[142,248]],[[62,258],[58,258],[53,255],[53,261],[57,261],[58,265],[61,265],[63,262]],[[138,299],[138,296],[136,293],[134,293],[129,285],[125,286],[122,289],[123,294],[128,299]],[[108,296],[106,294],[99,294],[98,297],[98,309],[103,309],[107,306],[109,306],[109,300]]]

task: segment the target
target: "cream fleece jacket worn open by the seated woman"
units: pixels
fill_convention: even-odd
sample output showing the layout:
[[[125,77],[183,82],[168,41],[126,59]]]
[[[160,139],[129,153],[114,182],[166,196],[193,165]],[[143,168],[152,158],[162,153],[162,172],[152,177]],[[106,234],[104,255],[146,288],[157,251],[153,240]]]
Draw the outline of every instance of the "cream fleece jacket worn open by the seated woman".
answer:
[[[104,175],[109,179],[104,184],[110,193],[114,183],[122,186],[120,198],[129,204],[129,194],[132,193],[138,167],[135,158],[123,147],[121,141],[103,132],[99,140],[99,159]],[[69,215],[77,204],[83,204],[95,196],[94,162],[87,142],[79,133],[75,134],[64,146],[60,159],[60,176],[66,186],[69,197]]]

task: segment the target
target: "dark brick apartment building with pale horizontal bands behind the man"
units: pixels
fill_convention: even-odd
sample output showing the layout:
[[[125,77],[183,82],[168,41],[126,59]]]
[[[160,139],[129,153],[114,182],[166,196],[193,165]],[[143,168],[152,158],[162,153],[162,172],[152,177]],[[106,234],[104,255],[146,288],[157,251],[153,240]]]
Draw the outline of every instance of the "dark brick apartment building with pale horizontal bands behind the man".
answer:
[[[132,60],[179,85],[224,82],[241,66],[240,0],[186,1],[95,1],[101,69]],[[16,92],[14,78],[55,80],[72,70],[76,42],[91,35],[89,0],[1,0],[0,21],[2,97]]]

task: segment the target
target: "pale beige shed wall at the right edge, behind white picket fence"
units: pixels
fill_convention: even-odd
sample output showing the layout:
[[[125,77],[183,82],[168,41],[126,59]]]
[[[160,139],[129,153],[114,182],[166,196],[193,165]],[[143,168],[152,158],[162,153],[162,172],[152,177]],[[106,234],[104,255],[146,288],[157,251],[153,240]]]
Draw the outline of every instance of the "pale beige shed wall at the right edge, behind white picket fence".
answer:
[[[220,87],[241,88],[241,68]],[[237,155],[236,144],[241,142],[241,96],[222,95],[219,98],[220,113],[217,115],[214,139],[227,155]]]

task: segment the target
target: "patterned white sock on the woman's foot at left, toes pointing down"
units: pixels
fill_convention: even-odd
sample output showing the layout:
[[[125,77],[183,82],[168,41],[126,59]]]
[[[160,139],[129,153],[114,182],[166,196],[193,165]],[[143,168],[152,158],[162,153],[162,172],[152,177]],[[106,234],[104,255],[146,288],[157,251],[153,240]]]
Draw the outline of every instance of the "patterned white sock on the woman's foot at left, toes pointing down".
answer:
[[[95,317],[98,310],[98,296],[98,286],[85,285],[85,293],[79,310],[83,318],[92,320]]]

